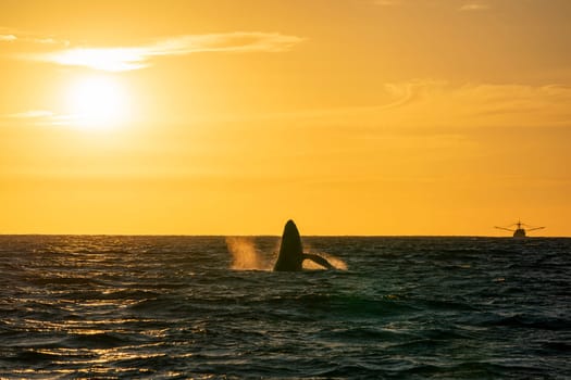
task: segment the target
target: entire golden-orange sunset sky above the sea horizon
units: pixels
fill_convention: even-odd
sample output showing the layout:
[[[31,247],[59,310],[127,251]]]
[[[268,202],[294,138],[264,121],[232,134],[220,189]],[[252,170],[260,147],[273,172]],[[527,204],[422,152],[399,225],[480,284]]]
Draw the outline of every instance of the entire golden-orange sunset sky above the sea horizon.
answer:
[[[569,20],[2,0],[0,233],[571,236]]]

